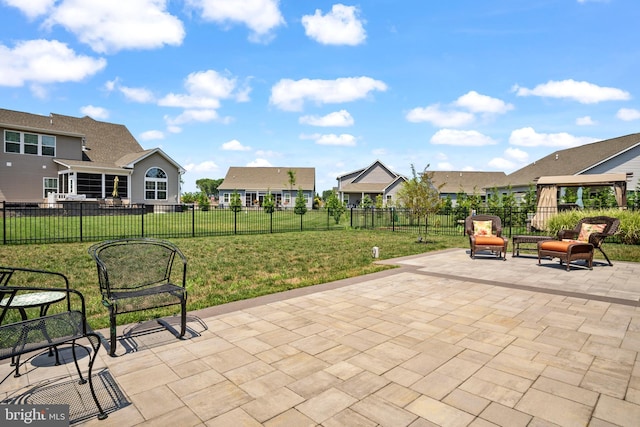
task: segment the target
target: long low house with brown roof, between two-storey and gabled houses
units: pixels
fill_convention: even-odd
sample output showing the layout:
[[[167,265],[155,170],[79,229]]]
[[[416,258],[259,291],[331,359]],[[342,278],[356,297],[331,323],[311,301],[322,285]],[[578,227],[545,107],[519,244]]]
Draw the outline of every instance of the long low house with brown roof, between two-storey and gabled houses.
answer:
[[[291,177],[294,181],[292,183]],[[240,195],[242,206],[260,207],[264,196],[271,193],[279,208],[293,208],[298,189],[302,189],[307,209],[313,207],[316,194],[316,169],[295,167],[238,167],[227,171],[224,181],[218,186],[220,207],[229,207],[231,195]]]

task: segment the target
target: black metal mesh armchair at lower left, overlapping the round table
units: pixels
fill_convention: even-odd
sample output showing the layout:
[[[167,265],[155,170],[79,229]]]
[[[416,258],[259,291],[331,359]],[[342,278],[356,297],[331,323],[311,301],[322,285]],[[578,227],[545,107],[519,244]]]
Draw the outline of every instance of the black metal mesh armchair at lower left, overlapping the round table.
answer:
[[[10,285],[11,279],[15,280]],[[45,283],[47,286],[23,286],[23,283],[30,284],[35,281]],[[49,284],[52,282],[64,283],[64,286],[50,286]],[[59,298],[61,294],[63,298]],[[99,412],[98,419],[107,418],[107,414],[100,406],[96,396],[91,374],[93,363],[100,349],[100,337],[87,324],[84,297],[80,292],[69,288],[67,277],[52,271],[0,267],[0,297],[3,301],[0,312],[0,360],[9,358],[15,360],[15,376],[19,377],[18,367],[21,355],[70,344],[73,362],[80,377],[79,383],[86,384],[88,380],[91,397]],[[33,304],[29,307],[40,306],[39,315],[29,319],[26,318],[26,314],[21,312],[20,320],[18,320],[17,314],[9,312],[9,310],[17,308],[14,303],[21,300],[28,301],[31,297],[33,297]],[[42,303],[36,304],[36,300],[40,300]],[[62,303],[63,309],[56,310],[53,314],[47,314],[47,308],[54,302],[53,300],[64,301]],[[26,308],[28,307],[22,307],[23,310]],[[4,323],[5,321],[7,323]],[[89,343],[93,352],[83,345],[85,342]],[[78,365],[77,347],[81,347],[89,354],[87,379],[82,375],[80,365]]]

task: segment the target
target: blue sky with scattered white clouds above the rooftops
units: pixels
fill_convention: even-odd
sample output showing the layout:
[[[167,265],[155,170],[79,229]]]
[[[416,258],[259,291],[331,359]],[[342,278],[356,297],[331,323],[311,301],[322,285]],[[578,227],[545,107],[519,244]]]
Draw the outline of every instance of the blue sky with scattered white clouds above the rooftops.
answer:
[[[640,131],[637,0],[0,0],[0,107],[120,123],[199,178],[510,173]]]

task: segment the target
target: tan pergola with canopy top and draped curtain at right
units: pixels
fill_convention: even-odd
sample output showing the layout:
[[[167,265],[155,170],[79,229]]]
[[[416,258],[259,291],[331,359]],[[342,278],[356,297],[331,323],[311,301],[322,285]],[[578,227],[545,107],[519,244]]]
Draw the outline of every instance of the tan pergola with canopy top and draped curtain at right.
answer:
[[[627,174],[542,176],[536,183],[538,205],[531,220],[538,230],[545,229],[547,220],[558,213],[558,187],[613,187],[618,207],[627,206]]]

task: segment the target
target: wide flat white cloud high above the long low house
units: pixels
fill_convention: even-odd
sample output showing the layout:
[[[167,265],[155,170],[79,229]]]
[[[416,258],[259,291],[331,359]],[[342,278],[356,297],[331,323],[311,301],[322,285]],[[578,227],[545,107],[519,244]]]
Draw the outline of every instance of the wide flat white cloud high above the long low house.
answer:
[[[305,100],[317,104],[337,104],[365,98],[387,85],[371,77],[342,77],[336,80],[282,79],[271,88],[269,102],[281,110],[300,111]]]

